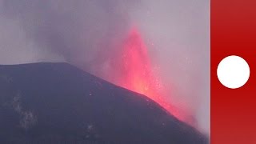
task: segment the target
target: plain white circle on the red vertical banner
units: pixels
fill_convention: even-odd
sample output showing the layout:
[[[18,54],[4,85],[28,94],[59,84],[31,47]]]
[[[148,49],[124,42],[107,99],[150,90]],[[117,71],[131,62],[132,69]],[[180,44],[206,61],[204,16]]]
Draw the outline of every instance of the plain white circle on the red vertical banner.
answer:
[[[219,82],[230,89],[244,86],[250,77],[250,67],[246,60],[236,55],[223,58],[218,64]]]

